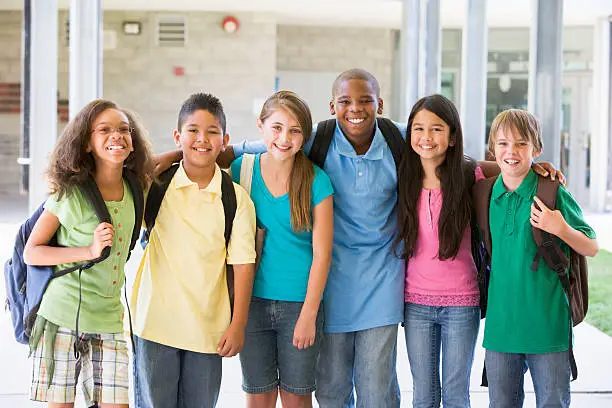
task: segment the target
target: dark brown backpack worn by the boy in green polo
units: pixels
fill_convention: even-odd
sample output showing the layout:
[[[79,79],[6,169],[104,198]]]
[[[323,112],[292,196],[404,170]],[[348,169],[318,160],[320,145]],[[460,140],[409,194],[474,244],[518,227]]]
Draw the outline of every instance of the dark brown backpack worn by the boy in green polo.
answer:
[[[485,260],[478,268],[478,286],[480,289],[480,306],[481,316],[486,314],[487,295],[489,290],[489,281],[491,273],[491,230],[489,227],[489,203],[491,201],[491,193],[493,184],[497,177],[491,177],[481,180],[472,188],[472,197],[476,212],[477,222],[479,226],[480,237],[484,248],[486,249]],[[538,186],[536,196],[550,209],[555,209],[557,201],[557,191],[559,190],[559,181],[552,181],[549,178],[538,176]],[[578,368],[574,358],[572,345],[572,326],[576,326],[586,316],[588,309],[588,268],[586,258],[578,254],[572,248],[569,249],[569,258],[561,249],[559,239],[554,235],[542,231],[539,228],[532,227],[533,239],[537,246],[537,252],[531,264],[531,269],[536,272],[540,258],[550,269],[558,276],[563,291],[568,300],[568,309],[570,316],[569,330],[569,355],[570,365],[572,369],[572,380],[578,377]],[[568,270],[569,267],[569,270]],[[566,273],[568,271],[568,273]],[[486,386],[486,370],[483,370],[483,385]]]

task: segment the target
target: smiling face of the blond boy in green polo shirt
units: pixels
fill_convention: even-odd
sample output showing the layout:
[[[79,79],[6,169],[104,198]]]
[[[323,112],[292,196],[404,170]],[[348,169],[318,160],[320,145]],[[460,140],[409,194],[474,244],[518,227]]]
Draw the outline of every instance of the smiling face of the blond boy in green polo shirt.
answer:
[[[541,152],[516,129],[509,127],[498,129],[494,154],[504,179],[522,180],[525,178],[533,159]]]

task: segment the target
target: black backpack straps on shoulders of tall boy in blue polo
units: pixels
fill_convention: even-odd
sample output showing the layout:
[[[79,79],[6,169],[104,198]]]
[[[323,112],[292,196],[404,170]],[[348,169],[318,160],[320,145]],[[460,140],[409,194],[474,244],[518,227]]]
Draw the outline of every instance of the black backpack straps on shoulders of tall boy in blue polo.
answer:
[[[399,170],[402,153],[404,152],[404,144],[406,142],[404,141],[404,138],[402,137],[402,134],[397,126],[395,126],[390,119],[376,118],[376,123],[378,124],[378,128],[383,134],[389,149],[391,149],[391,154],[393,155],[393,160],[395,161],[395,168],[396,170]],[[319,122],[317,125],[317,131],[315,133],[308,157],[320,168],[323,168],[323,165],[325,164],[327,151],[329,150],[331,141],[334,138],[335,131],[336,119],[327,119]]]

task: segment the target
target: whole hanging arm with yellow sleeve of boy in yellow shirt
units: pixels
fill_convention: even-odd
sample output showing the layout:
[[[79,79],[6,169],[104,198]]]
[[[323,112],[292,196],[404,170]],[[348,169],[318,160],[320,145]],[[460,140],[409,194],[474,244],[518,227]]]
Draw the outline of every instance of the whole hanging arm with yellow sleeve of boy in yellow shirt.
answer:
[[[255,277],[255,207],[241,186],[234,184],[234,189],[237,208],[227,248],[227,263],[234,267],[234,311],[217,349],[224,357],[235,356],[244,345]]]

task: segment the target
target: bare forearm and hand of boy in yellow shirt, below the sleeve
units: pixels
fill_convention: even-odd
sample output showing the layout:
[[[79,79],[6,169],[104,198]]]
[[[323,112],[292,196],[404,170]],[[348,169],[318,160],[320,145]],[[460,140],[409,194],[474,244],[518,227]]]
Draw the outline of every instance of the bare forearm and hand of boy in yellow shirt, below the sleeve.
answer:
[[[217,347],[217,353],[223,357],[235,356],[244,346],[244,330],[249,316],[254,277],[254,264],[234,265],[234,313]]]

